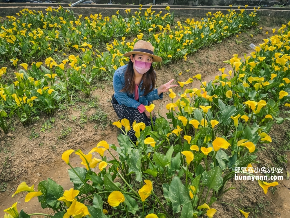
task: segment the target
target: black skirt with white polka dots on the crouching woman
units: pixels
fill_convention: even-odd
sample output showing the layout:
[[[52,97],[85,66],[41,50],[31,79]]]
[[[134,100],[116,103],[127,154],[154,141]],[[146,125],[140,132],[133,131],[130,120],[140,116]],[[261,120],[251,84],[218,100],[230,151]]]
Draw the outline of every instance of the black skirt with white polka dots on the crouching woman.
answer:
[[[134,121],[136,123],[144,123],[146,126],[151,126],[151,119],[148,118],[145,113],[140,113],[138,109],[127,107],[126,105],[119,105],[118,101],[115,99],[115,96],[112,96],[113,108],[115,112],[117,113],[117,116],[120,120],[126,118],[130,121],[131,129],[127,133],[127,135],[131,138],[131,140],[134,142],[137,140],[135,136],[135,131],[133,130],[132,124]],[[148,102],[148,105],[150,105],[151,102]],[[152,117],[153,125],[155,125],[156,117]],[[122,126],[122,129],[125,131],[124,126]]]

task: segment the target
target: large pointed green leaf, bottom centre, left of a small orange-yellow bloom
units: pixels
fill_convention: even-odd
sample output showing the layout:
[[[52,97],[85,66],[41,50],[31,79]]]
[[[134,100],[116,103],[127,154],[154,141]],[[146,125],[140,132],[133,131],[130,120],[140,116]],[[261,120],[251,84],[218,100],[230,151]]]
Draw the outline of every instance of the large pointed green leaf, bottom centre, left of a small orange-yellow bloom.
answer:
[[[180,212],[180,205],[185,205],[189,202],[186,188],[178,176],[175,176],[169,185],[169,199],[174,213]]]

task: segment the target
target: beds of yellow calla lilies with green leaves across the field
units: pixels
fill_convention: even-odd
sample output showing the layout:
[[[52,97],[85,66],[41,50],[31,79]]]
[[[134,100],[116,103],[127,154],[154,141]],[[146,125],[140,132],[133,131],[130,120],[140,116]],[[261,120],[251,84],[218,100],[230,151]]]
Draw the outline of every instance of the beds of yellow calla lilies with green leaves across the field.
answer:
[[[167,10],[165,15],[140,8],[134,14],[127,9],[124,18],[118,12],[112,17],[83,18],[61,7],[48,8],[46,14],[24,9],[1,22],[1,58],[10,61],[15,71],[13,78],[7,67],[0,70],[2,134],[9,133],[14,117],[30,126],[41,114],[54,116],[61,102],[73,102],[74,93],[90,98],[97,81],[111,80],[115,70],[126,64],[128,58],[122,54],[131,51],[137,40],[151,41],[155,54],[163,58],[156,66],[162,69],[259,21],[254,9],[249,14],[209,12],[201,21],[189,18],[176,23],[174,13]],[[71,168],[74,188],[64,190],[50,178],[37,188],[20,183],[14,194],[24,192],[25,202],[37,197],[41,207],[51,208],[54,215],[19,212],[16,202],[4,211],[5,217],[211,218],[218,217],[217,205],[224,203],[247,218],[244,208],[221,201],[236,188],[227,183],[236,167],[252,175],[261,145],[272,142],[271,127],[290,120],[290,26],[282,25],[273,33],[243,59],[233,54],[224,61],[214,80],[193,74],[178,81],[179,90],[170,90],[166,118],[157,118],[152,127],[133,124],[137,142],[126,135],[131,127],[123,119],[113,123],[124,133],[117,136],[119,146],[102,140],[88,153],[65,151],[61,158]],[[200,88],[191,88],[194,81]],[[146,106],[148,112],[154,108]],[[83,167],[70,164],[72,154]],[[267,194],[279,184],[258,180],[256,185]]]

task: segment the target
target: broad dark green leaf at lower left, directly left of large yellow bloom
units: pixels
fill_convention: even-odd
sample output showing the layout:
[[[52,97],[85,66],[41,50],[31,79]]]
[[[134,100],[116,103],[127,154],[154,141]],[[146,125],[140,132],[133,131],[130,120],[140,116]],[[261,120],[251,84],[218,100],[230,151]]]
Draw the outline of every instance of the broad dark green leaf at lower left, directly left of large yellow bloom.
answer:
[[[63,194],[64,188],[51,178],[47,178],[46,202],[53,208],[58,208],[60,201],[57,199],[59,199]]]

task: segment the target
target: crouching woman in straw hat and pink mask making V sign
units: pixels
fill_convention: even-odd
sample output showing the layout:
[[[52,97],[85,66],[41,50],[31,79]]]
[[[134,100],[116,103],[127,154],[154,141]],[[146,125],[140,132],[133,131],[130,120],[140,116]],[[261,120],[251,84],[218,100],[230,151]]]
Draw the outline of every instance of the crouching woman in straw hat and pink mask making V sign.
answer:
[[[130,121],[131,130],[127,135],[132,141],[137,140],[132,128],[134,121],[151,126],[150,113],[145,110],[145,105],[150,105],[153,100],[162,99],[163,92],[168,92],[170,87],[177,86],[170,85],[172,79],[155,88],[156,72],[152,62],[160,62],[162,58],[154,55],[153,50],[154,47],[150,42],[143,40],[136,42],[133,51],[123,55],[130,58],[129,63],[119,67],[113,77],[115,91],[112,96],[113,108],[119,119],[126,118]],[[155,123],[155,114],[154,112],[151,114]]]

